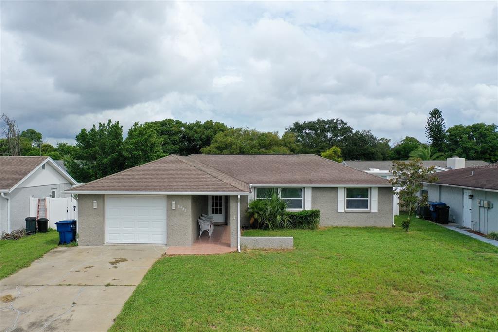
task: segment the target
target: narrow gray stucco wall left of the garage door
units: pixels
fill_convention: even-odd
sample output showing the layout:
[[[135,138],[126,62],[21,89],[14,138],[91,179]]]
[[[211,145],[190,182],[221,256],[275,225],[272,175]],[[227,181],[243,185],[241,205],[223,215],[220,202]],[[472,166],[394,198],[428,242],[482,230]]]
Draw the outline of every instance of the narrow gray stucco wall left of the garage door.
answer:
[[[97,208],[93,201],[97,200]],[[104,244],[104,195],[78,195],[78,245]]]

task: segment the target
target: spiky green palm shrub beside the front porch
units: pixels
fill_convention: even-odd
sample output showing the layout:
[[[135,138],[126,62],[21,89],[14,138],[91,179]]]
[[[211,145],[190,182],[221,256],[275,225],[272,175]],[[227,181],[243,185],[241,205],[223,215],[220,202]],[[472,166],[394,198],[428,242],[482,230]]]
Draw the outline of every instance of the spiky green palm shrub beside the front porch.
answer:
[[[265,199],[255,199],[249,203],[248,215],[254,228],[291,228],[286,213],[287,204],[272,190]]]

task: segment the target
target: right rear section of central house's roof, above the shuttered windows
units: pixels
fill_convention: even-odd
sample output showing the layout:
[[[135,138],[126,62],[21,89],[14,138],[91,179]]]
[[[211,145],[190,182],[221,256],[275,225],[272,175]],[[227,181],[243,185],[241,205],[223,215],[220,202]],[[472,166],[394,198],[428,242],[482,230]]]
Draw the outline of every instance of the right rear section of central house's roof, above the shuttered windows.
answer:
[[[383,178],[316,155],[191,155],[189,158],[252,184],[390,185]]]

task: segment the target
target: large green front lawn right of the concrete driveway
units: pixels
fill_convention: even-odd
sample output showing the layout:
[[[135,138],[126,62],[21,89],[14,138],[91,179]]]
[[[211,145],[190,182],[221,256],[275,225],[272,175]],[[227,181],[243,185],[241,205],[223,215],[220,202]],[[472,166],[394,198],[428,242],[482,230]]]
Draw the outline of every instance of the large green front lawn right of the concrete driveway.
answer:
[[[261,234],[295,249],[163,257],[111,331],[498,330],[496,247],[424,220]]]

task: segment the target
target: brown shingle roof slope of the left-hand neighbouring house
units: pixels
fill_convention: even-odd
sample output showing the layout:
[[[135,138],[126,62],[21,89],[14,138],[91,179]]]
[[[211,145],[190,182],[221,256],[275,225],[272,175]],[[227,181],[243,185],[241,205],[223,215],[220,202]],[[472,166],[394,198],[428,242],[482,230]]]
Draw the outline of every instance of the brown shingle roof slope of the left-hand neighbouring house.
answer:
[[[0,189],[8,190],[48,157],[0,157]]]

